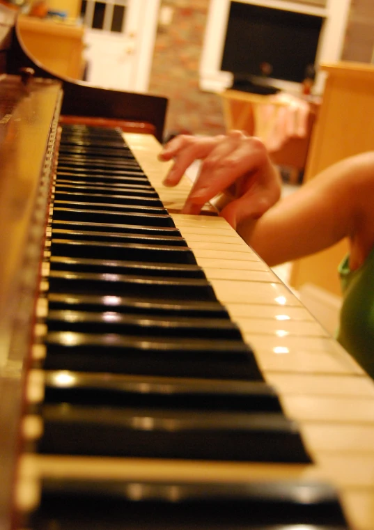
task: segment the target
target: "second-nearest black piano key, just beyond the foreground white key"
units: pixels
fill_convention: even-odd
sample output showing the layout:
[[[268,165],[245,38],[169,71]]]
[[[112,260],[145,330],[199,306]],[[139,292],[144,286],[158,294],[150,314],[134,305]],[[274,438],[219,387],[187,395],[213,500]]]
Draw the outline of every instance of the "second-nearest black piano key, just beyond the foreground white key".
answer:
[[[42,405],[41,453],[187,460],[310,462],[276,412]]]

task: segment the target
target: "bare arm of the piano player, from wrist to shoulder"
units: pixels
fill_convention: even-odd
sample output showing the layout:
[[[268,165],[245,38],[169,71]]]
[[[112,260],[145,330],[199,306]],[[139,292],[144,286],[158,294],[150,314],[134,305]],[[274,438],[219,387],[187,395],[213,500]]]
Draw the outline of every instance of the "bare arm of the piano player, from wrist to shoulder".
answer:
[[[325,249],[343,237],[360,240],[373,210],[372,199],[374,153],[366,153],[331,166],[258,221],[244,221],[237,231],[269,265],[276,265]],[[371,233],[365,244],[373,244]]]

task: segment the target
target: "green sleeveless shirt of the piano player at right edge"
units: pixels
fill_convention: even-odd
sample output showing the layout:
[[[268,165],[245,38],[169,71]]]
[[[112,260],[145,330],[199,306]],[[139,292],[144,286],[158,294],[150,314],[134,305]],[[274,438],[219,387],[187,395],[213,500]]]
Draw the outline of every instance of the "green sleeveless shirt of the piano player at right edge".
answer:
[[[349,257],[338,268],[344,300],[338,341],[374,378],[374,248],[359,269]]]

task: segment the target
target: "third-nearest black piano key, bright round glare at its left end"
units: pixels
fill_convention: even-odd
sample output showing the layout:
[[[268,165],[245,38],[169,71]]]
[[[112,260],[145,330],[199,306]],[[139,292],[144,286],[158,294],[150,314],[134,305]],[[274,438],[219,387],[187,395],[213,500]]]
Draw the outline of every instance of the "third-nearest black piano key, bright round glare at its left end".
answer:
[[[276,391],[262,381],[207,381],[67,371],[45,372],[44,403],[281,412]]]

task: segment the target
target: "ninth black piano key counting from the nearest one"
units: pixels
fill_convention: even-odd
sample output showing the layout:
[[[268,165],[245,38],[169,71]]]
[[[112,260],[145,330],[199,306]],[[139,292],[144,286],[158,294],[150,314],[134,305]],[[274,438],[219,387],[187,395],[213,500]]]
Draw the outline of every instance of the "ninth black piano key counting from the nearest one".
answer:
[[[194,254],[188,247],[173,247],[172,245],[75,241],[52,238],[50,248],[55,256],[101,257],[103,260],[140,260],[143,262],[196,265]]]

